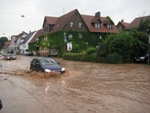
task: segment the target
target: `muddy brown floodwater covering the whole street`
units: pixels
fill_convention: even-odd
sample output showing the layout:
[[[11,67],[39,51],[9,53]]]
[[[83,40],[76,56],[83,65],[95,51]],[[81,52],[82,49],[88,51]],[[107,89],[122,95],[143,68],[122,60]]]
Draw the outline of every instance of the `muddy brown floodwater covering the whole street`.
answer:
[[[29,71],[33,57],[0,63],[0,113],[150,113],[150,66],[56,59],[63,75]]]

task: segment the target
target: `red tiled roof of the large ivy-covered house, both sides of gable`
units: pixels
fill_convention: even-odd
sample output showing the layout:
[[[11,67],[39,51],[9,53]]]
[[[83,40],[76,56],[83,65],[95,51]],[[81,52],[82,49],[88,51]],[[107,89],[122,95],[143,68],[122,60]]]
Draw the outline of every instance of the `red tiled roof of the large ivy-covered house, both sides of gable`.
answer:
[[[72,15],[74,13],[79,13],[77,9],[62,15],[61,17],[45,17],[44,23],[45,21],[48,22],[48,24],[50,25],[54,25],[54,27],[52,28],[52,30],[50,31],[50,33],[54,33],[60,30],[63,30],[63,28],[65,27],[65,25],[68,23],[69,19],[72,17]],[[112,21],[106,17],[100,17],[100,22],[102,22],[101,28],[100,29],[96,29],[91,22],[93,20],[97,20],[98,18],[96,18],[95,16],[89,16],[89,15],[81,15],[82,19],[84,20],[84,22],[86,23],[87,27],[89,28],[90,32],[100,32],[100,33],[118,33],[118,29],[116,28],[116,26],[112,23]],[[43,23],[43,25],[44,25]],[[106,23],[112,23],[112,29],[108,29],[106,28],[106,26],[104,24]]]

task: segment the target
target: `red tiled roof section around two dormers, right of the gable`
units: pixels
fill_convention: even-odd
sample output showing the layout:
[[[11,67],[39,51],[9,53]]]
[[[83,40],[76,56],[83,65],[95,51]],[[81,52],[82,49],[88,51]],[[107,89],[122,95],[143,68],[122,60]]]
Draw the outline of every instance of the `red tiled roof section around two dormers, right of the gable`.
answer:
[[[107,29],[104,24],[106,24],[107,22],[110,22],[110,20],[106,17],[100,17],[100,20],[102,21],[101,24],[101,28],[100,29],[96,29],[92,24],[92,20],[93,18],[95,18],[95,16],[90,16],[90,15],[81,15],[84,22],[86,23],[87,27],[89,28],[90,32],[101,32],[101,33],[118,33],[118,29],[116,28],[115,25],[112,25],[112,29]]]

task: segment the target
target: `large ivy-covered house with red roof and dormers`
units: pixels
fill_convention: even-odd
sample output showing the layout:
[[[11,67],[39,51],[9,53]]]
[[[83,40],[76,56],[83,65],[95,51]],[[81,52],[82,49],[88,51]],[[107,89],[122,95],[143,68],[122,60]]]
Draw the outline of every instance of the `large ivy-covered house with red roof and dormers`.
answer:
[[[43,35],[38,39],[39,53],[52,55],[66,50],[67,43],[72,43],[76,50],[86,46],[96,47],[108,34],[118,33],[118,29],[109,17],[82,15],[77,9],[60,17],[44,18]]]

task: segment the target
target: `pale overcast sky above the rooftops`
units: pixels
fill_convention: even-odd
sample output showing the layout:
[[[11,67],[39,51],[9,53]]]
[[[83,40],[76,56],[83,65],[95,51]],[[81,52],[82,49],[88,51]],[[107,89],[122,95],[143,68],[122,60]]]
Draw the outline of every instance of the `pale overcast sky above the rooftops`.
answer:
[[[100,11],[115,24],[121,19],[130,23],[150,15],[150,0],[0,0],[0,37],[41,29],[44,16],[59,17],[74,9],[87,15]]]

